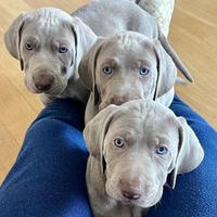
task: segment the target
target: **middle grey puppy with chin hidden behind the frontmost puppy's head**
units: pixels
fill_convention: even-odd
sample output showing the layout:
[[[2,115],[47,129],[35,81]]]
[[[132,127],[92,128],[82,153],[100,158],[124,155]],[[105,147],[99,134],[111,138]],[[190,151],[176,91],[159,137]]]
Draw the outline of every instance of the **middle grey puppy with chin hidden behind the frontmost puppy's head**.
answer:
[[[78,73],[91,91],[86,123],[110,104],[149,98],[169,106],[174,99],[177,68],[173,59],[158,39],[136,31],[99,39],[81,59]]]

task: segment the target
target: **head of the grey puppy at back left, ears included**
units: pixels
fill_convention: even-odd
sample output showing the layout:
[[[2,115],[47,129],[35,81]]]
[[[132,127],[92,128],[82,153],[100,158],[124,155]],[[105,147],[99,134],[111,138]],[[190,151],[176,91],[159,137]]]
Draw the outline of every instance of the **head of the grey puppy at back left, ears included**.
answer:
[[[21,62],[28,90],[51,95],[61,94],[69,78],[78,78],[78,63],[94,40],[79,18],[53,8],[22,13],[4,35],[7,49]]]

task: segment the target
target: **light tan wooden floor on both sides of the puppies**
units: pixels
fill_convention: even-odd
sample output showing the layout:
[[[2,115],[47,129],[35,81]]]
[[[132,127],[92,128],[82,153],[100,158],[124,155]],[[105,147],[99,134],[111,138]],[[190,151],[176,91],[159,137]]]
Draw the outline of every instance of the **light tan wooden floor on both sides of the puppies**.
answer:
[[[42,105],[23,84],[20,65],[5,51],[3,33],[22,12],[56,7],[72,12],[88,0],[0,0],[0,183],[13,165],[25,131]],[[179,0],[169,40],[194,77],[177,92],[217,128],[217,0]]]

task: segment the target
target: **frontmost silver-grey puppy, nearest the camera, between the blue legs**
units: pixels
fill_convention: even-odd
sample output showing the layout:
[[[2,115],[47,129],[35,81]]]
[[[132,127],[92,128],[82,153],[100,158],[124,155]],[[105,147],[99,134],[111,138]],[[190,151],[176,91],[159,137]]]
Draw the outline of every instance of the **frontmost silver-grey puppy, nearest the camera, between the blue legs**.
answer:
[[[84,130],[87,187],[94,217],[141,217],[167,177],[195,169],[203,149],[183,117],[152,100],[111,104]]]

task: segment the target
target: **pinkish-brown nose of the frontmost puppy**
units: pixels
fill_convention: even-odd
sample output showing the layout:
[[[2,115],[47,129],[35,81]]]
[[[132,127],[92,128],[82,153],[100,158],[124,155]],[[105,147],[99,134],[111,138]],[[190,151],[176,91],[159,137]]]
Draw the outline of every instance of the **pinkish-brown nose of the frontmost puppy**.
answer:
[[[128,200],[139,200],[141,197],[139,177],[133,179],[122,179],[120,190],[124,197]]]

